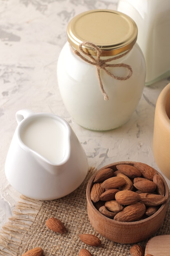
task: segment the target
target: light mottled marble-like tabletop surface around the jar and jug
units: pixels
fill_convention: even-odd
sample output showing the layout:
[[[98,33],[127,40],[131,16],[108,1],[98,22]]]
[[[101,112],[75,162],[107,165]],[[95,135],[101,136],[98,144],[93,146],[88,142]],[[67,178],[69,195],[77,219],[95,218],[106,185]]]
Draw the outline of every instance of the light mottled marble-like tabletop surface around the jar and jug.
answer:
[[[66,111],[57,87],[56,65],[68,21],[89,9],[116,9],[117,0],[2,0],[0,2],[0,226],[12,214],[20,193],[7,182],[4,164],[17,126],[15,112],[51,112],[66,119],[88,157],[100,168],[117,161],[157,167],[152,153],[155,104],[164,79],[145,87],[136,111],[121,128],[86,130]]]

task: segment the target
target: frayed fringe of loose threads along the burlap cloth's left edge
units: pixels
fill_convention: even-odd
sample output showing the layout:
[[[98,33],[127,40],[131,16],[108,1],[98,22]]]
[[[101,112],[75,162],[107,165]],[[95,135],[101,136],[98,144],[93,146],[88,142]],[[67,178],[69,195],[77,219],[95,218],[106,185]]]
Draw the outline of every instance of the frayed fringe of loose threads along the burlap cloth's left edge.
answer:
[[[20,196],[20,201],[17,203],[13,216],[9,218],[0,231],[0,255],[16,256],[16,252],[20,247],[20,243],[34,222],[42,201],[31,200],[25,196]]]

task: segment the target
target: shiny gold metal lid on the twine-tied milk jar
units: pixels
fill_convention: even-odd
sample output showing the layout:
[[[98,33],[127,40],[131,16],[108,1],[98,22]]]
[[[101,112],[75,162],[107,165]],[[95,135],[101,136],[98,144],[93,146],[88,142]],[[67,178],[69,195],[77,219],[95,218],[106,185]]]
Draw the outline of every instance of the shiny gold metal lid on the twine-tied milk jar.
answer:
[[[77,50],[88,41],[102,49],[102,56],[113,56],[131,49],[137,40],[137,25],[119,11],[96,9],[75,16],[67,26],[68,42]],[[96,55],[88,46],[86,52]]]

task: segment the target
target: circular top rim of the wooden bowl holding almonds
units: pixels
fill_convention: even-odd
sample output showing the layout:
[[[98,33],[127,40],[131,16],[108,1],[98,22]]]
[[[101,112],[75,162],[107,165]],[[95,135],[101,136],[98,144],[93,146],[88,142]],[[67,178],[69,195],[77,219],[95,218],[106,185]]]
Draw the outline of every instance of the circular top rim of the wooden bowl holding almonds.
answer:
[[[121,161],[121,162],[114,162],[114,163],[111,163],[111,164],[108,164],[102,168],[100,168],[99,170],[97,170],[92,176],[91,178],[88,180],[88,184],[87,184],[87,187],[86,187],[86,199],[87,199],[87,203],[90,204],[90,206],[93,208],[93,210],[99,214],[101,216],[101,218],[103,219],[106,219],[107,221],[110,221],[112,222],[113,224],[115,225],[122,225],[122,226],[136,226],[136,225],[139,225],[139,224],[142,224],[146,221],[149,221],[149,220],[152,220],[154,219],[156,216],[159,215],[159,213],[166,207],[167,203],[168,203],[168,197],[169,197],[169,189],[168,189],[168,184],[166,182],[166,180],[164,179],[163,175],[161,175],[161,173],[159,173],[159,171],[157,171],[155,168],[153,168],[156,173],[161,177],[161,179],[163,180],[163,184],[165,186],[165,196],[167,197],[167,200],[166,202],[164,202],[161,207],[159,207],[159,209],[156,211],[156,213],[154,213],[153,215],[151,216],[148,216],[147,218],[145,219],[142,219],[142,220],[137,220],[137,221],[130,221],[130,222],[123,222],[123,221],[118,221],[118,220],[113,220],[111,218],[108,218],[106,216],[104,216],[102,213],[100,213],[97,208],[94,206],[92,200],[91,200],[91,197],[90,197],[90,191],[91,191],[91,188],[92,188],[92,185],[94,184],[93,181],[95,179],[95,176],[97,173],[99,173],[100,171],[102,171],[103,169],[106,169],[106,168],[111,168],[111,166],[115,166],[115,165],[118,165],[118,164],[130,164],[130,165],[133,165],[134,163],[138,163],[138,162],[135,162],[135,161]],[[141,162],[140,162],[141,163]],[[145,163],[141,163],[141,164],[145,164]],[[151,167],[151,166],[150,166]]]

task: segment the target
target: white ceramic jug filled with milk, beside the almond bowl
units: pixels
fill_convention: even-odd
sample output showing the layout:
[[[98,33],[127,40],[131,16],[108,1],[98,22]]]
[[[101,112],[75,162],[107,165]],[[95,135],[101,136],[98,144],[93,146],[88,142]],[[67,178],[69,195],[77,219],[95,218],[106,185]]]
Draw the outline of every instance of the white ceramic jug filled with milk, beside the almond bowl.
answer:
[[[20,110],[5,163],[7,180],[23,195],[53,200],[68,195],[88,171],[85,152],[61,117]]]

